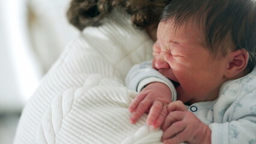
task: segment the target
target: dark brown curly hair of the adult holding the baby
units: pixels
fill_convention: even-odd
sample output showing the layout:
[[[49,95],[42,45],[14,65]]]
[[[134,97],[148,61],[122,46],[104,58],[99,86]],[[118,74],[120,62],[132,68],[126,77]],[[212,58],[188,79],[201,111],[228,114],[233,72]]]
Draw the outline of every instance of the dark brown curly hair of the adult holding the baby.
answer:
[[[129,14],[136,28],[146,28],[159,22],[163,8],[171,0],[72,0],[67,17],[82,31],[86,26],[99,26],[103,17],[114,8]]]

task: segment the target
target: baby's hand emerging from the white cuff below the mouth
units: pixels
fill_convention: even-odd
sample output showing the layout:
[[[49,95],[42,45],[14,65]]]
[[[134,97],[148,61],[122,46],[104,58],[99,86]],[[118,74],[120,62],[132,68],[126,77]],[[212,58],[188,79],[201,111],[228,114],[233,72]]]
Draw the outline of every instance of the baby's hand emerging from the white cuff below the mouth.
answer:
[[[129,106],[129,112],[132,112],[130,122],[135,124],[149,110],[147,124],[154,128],[160,127],[168,114],[167,105],[171,99],[171,90],[164,83],[149,83]]]

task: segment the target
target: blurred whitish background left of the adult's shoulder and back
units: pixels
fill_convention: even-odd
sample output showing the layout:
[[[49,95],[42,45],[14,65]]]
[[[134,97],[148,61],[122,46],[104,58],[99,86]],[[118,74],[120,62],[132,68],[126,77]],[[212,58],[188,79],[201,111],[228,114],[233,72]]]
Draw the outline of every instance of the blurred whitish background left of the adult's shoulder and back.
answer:
[[[53,62],[79,31],[70,0],[0,0],[0,143],[13,143],[20,113]]]

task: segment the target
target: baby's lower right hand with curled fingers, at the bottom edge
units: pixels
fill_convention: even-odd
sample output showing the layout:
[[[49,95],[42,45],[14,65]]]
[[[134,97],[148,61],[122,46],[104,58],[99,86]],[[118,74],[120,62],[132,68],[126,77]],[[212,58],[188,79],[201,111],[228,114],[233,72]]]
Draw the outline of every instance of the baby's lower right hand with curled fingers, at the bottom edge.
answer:
[[[163,143],[211,143],[211,130],[189,112],[181,101],[168,105],[168,116],[162,125]]]

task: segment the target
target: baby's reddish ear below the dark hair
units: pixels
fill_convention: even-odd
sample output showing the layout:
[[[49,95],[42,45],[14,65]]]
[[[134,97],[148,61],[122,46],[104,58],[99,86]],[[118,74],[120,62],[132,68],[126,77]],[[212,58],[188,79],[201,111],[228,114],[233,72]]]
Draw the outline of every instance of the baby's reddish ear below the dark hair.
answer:
[[[249,53],[245,49],[235,50],[228,55],[229,63],[225,77],[231,79],[245,70]]]

